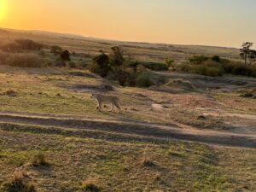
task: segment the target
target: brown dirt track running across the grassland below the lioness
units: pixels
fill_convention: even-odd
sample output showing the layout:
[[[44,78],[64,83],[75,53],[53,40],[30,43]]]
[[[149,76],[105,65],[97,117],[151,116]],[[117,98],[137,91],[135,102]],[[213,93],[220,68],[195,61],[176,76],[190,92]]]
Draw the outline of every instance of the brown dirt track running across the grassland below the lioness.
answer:
[[[90,131],[108,131],[138,137],[179,139],[229,147],[256,148],[256,135],[224,131],[201,131],[187,125],[158,125],[135,121],[86,119],[66,115],[44,116],[25,113],[0,113],[0,122],[22,125],[40,125]]]

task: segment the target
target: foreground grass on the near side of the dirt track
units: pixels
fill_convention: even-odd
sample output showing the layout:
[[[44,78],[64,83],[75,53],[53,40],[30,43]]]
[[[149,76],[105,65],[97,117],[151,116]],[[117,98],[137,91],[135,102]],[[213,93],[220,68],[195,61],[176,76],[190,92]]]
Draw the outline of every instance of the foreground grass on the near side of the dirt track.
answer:
[[[199,143],[118,142],[42,131],[0,132],[0,183],[15,167],[44,152],[49,168],[27,168],[38,191],[75,191],[94,178],[102,191],[253,191],[255,151]],[[36,128],[34,128],[36,129]],[[96,133],[100,134],[100,133]],[[239,154],[239,155],[237,155]],[[154,165],[144,166],[146,158]],[[236,174],[239,173],[239,174]],[[158,190],[157,190],[158,189]]]

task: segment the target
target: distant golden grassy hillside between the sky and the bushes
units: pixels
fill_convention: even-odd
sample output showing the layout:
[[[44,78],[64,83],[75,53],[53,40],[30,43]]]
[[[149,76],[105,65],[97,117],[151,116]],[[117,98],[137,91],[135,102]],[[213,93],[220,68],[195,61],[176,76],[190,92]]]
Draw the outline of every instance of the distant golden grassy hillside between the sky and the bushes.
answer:
[[[71,51],[87,55],[96,55],[100,49],[108,53],[112,46],[120,45],[125,50],[125,54],[132,55],[132,57],[141,61],[163,61],[166,57],[172,57],[177,62],[183,62],[189,56],[195,54],[220,55],[226,58],[240,59],[239,49],[233,48],[117,42],[73,37],[58,33],[0,30],[0,40],[2,40],[0,45],[15,38],[31,38],[44,44],[60,45]]]

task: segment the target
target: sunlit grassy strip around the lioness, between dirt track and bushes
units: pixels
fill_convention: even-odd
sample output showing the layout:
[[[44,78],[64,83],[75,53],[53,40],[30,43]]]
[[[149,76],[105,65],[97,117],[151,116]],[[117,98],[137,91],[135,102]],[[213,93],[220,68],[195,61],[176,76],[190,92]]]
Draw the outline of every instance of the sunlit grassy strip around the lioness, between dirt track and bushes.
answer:
[[[2,72],[1,72],[2,71]],[[49,71],[51,71],[49,73]],[[198,119],[204,112],[251,113],[255,114],[256,103],[253,99],[241,98],[239,94],[212,92],[212,96],[201,93],[160,92],[138,88],[121,88],[108,92],[119,96],[122,114],[104,113],[95,110],[96,101],[90,98],[90,92],[68,89],[77,84],[99,85],[102,79],[70,76],[70,69],[20,69],[0,67],[0,110],[19,113],[65,114],[93,119],[124,119],[142,122],[182,123],[201,128],[230,127],[225,124],[227,117],[208,115],[207,119]],[[85,73],[87,73],[85,71]],[[7,96],[7,90],[15,90],[17,96]],[[143,93],[143,94],[142,94]],[[60,95],[58,95],[60,94]],[[168,107],[165,113],[152,110],[152,103]],[[236,103],[240,103],[236,105]],[[241,103],[243,103],[241,105]]]

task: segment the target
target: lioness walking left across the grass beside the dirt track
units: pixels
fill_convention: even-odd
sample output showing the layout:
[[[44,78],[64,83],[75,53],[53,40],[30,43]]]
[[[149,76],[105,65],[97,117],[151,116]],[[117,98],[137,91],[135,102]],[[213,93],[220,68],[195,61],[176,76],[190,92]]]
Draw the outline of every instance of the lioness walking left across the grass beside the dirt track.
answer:
[[[96,98],[98,105],[96,106],[96,110],[102,111],[102,104],[112,104],[112,109],[115,106],[121,112],[121,107],[119,104],[119,98],[117,96],[103,96],[101,94],[92,94],[92,98]]]

